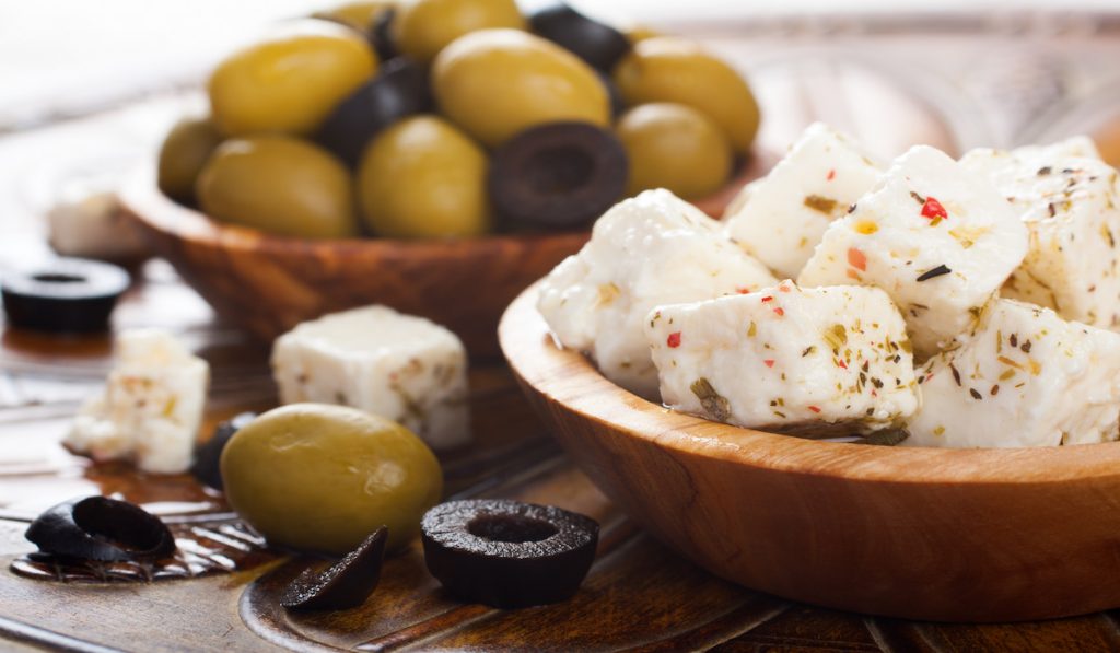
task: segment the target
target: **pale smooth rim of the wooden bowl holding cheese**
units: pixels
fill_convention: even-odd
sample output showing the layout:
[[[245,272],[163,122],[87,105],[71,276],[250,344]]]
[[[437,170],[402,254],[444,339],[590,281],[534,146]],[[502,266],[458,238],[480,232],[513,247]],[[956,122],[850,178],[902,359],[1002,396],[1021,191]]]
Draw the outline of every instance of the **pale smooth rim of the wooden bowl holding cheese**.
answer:
[[[949,449],[810,440],[715,422],[642,399],[562,349],[536,310],[541,281],[506,309],[498,341],[523,385],[582,420],[674,455],[838,479],[898,484],[1038,485],[1120,476],[1120,442]]]

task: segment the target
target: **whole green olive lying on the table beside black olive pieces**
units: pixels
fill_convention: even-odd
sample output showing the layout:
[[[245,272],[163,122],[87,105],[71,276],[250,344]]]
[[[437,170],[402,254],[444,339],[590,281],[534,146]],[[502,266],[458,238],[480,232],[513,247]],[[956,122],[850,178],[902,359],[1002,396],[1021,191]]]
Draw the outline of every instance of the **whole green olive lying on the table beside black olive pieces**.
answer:
[[[396,422],[293,403],[242,427],[222,453],[225,498],[269,542],[340,556],[382,524],[405,547],[444,492],[439,461]]]

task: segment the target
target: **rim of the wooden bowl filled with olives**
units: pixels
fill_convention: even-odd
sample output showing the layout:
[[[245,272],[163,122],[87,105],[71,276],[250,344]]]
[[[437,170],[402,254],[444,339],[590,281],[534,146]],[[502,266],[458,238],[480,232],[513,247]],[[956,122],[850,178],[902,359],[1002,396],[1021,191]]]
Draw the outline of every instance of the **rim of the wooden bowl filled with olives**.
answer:
[[[156,168],[151,165],[139,166],[125,175],[121,183],[119,197],[122,206],[132,216],[150,228],[174,235],[175,237],[197,243],[218,244],[233,251],[255,251],[277,254],[299,252],[337,253],[339,251],[371,252],[384,250],[399,252],[402,255],[420,258],[439,258],[450,253],[461,252],[464,246],[486,245],[507,246],[525,245],[545,240],[586,240],[590,230],[557,231],[534,233],[497,233],[480,236],[432,237],[432,239],[301,239],[270,234],[250,226],[221,223],[199,209],[184,206],[159,189],[156,183]]]

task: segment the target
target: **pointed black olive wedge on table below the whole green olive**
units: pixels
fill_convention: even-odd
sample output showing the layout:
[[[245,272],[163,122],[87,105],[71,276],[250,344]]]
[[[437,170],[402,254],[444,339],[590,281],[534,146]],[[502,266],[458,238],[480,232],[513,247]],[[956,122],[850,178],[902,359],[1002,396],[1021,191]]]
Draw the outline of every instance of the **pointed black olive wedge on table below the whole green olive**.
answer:
[[[362,605],[381,579],[386,542],[389,526],[381,526],[326,571],[305,569],[284,588],[280,605],[291,610],[344,610]]]

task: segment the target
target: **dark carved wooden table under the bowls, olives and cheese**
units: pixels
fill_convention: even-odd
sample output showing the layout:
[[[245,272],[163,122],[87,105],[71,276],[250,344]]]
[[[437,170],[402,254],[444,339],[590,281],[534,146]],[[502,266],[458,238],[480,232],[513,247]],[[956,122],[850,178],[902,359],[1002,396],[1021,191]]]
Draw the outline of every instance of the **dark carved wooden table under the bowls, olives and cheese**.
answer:
[[[764,108],[772,108],[762,137],[768,144],[784,147],[811,118],[857,132],[885,156],[911,140],[959,151],[1081,129],[1113,133],[1107,146],[1120,142],[1114,137],[1120,102],[1111,104],[1111,113],[1098,110],[1117,97],[1104,83],[1113,64],[1101,59],[1108,54],[1109,62],[1116,60],[1120,21],[1114,18],[1088,32],[1075,20],[1049,31],[997,20],[974,34],[963,29],[974,22],[944,22],[905,39],[889,20],[867,27],[847,20],[831,28],[822,21],[710,27],[715,47],[741,55],[756,72]],[[822,59],[822,41],[851,56]],[[788,56],[775,55],[778,45]],[[935,75],[896,74],[907,65],[932,69],[933,59],[940,65]],[[869,74],[872,62],[879,76]],[[1055,62],[1057,67],[1051,66]],[[990,84],[1024,71],[1030,74],[1018,85]],[[885,87],[885,81],[894,86]],[[952,88],[969,109],[944,102]],[[889,102],[861,99],[864,91]],[[59,179],[133,164],[167,120],[196,101],[156,99],[142,111],[128,106],[0,139],[0,272],[48,255],[35,214]],[[1055,113],[1062,106],[1065,111]],[[871,110],[903,112],[911,120],[861,120]],[[1120,148],[1107,151],[1113,162],[1120,157]],[[274,404],[265,345],[224,325],[165,263],[150,262],[138,277],[114,315],[114,328],[170,328],[211,361],[214,384],[204,437],[220,419]],[[239,526],[221,495],[187,476],[93,466],[60,447],[78,402],[97,388],[109,364],[108,338],[59,341],[7,328],[0,335],[0,647],[1120,650],[1116,613],[1009,625],[908,623],[791,604],[715,578],[635,528],[571,466],[500,362],[473,372],[477,444],[444,457],[448,494],[551,503],[599,520],[598,558],[579,594],[515,612],[464,605],[440,590],[413,547],[386,561],[380,587],[363,607],[289,615],[277,606],[278,589],[309,561],[264,548]],[[118,569],[59,582],[50,569],[43,579],[13,572],[12,561],[34,549],[22,538],[28,521],[58,501],[90,493],[119,495],[164,515],[180,538],[184,568],[204,573],[149,582],[136,569]]]

